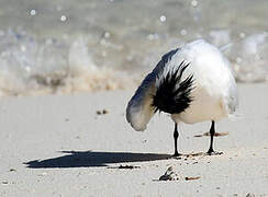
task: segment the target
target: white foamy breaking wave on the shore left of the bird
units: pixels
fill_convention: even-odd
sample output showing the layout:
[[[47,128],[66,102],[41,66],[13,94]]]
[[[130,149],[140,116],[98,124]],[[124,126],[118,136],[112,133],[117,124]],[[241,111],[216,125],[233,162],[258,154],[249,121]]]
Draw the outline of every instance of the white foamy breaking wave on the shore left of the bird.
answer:
[[[0,36],[0,96],[125,89],[136,79],[97,67],[87,38],[38,40],[11,30]]]

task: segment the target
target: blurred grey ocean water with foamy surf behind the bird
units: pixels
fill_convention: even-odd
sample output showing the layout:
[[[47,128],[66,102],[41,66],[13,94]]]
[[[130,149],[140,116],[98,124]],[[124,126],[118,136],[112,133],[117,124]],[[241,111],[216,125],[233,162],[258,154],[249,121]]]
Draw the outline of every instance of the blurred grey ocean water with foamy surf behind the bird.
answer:
[[[0,0],[0,96],[129,89],[204,38],[268,81],[267,0]]]

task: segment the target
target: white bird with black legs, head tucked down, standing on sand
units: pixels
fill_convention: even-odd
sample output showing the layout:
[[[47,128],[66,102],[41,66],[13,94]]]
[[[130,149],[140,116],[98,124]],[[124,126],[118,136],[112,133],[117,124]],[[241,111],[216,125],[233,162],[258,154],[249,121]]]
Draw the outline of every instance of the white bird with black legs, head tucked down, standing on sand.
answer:
[[[170,114],[175,123],[175,157],[179,155],[177,125],[211,120],[208,154],[217,154],[213,150],[215,121],[234,114],[237,104],[228,60],[215,46],[198,39],[161,57],[129,102],[126,119],[141,131],[157,111]]]

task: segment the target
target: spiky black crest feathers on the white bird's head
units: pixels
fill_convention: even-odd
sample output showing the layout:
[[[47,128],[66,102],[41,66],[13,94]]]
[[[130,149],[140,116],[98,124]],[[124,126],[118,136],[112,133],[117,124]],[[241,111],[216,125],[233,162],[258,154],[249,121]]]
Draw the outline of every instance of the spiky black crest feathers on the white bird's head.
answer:
[[[169,70],[165,78],[159,79],[156,86],[156,94],[153,99],[155,112],[160,111],[169,114],[179,114],[190,106],[192,97],[190,95],[193,89],[193,76],[190,74],[183,81],[181,77],[183,71],[190,65],[182,61],[176,69]],[[161,73],[163,74],[163,73]]]

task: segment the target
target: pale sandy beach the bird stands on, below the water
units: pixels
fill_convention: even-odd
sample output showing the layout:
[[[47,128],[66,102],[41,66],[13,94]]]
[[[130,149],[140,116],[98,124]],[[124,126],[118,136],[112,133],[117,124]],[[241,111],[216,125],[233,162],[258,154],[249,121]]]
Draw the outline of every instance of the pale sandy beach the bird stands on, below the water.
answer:
[[[167,115],[126,123],[133,91],[1,99],[0,196],[268,196],[268,85],[238,88],[243,116],[216,125],[224,154],[181,159]],[[209,127],[183,125],[179,150],[205,152]],[[158,181],[169,166],[178,181]]]

